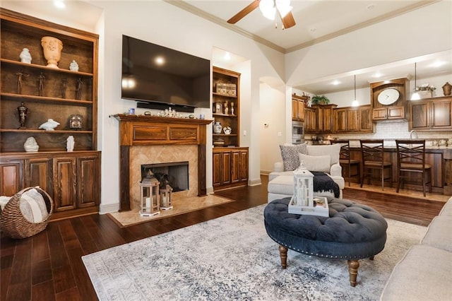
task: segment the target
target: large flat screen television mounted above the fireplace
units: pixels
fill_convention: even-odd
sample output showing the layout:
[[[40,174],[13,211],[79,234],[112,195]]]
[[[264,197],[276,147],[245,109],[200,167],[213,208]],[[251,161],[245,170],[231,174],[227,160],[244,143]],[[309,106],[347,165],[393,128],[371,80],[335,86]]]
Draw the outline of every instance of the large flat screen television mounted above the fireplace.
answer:
[[[121,98],[137,107],[210,107],[210,60],[122,36]]]

